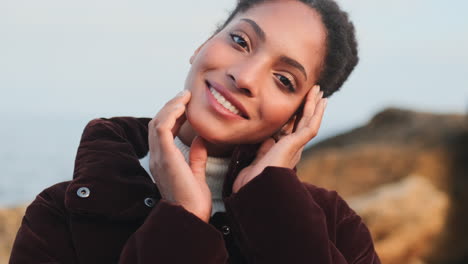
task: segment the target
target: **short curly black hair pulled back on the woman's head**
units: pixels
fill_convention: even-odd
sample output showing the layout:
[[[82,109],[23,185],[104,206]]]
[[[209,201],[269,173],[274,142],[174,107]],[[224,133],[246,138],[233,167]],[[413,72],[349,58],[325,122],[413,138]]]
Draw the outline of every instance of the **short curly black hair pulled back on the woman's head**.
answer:
[[[268,1],[278,0],[239,0],[215,34],[224,29],[237,14]],[[317,84],[320,85],[323,96],[329,97],[340,89],[359,61],[354,25],[348,14],[333,0],[297,1],[315,9],[327,30],[326,53]]]

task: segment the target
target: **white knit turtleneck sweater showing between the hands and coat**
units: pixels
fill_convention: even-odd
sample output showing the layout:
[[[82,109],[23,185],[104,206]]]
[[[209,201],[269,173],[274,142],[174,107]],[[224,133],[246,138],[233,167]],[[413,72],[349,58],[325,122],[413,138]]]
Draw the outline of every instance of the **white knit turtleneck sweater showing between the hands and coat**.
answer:
[[[182,154],[185,157],[185,161],[188,163],[190,147],[185,145],[178,137],[174,138],[174,143],[180,150],[180,152],[182,152]],[[140,164],[150,175],[151,180],[153,180],[154,182],[154,176],[151,174],[151,171],[149,169],[149,160],[150,157],[148,153],[144,158],[140,159]],[[208,184],[208,188],[210,188],[211,191],[211,199],[213,205],[211,215],[214,215],[216,212],[226,211],[226,209],[224,208],[222,191],[224,177],[228,171],[229,161],[229,158],[216,157],[208,157],[208,160],[206,161],[206,183]]]

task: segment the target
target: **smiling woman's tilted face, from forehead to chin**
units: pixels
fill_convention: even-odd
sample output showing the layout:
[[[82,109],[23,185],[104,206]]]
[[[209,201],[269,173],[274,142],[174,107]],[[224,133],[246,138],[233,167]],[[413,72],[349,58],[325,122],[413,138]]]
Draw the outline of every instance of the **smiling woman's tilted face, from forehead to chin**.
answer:
[[[294,115],[318,78],[326,31],[296,1],[259,4],[238,14],[192,56],[186,115],[215,144],[258,143]]]

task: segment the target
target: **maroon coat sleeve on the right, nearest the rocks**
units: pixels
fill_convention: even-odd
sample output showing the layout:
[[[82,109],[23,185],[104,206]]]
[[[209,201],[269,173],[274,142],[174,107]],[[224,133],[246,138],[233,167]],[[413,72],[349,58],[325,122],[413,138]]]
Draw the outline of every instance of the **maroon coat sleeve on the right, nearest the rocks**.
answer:
[[[380,263],[361,218],[294,170],[267,167],[225,204],[249,263]]]

